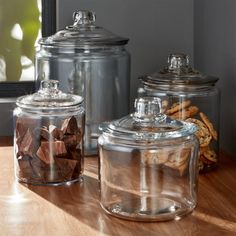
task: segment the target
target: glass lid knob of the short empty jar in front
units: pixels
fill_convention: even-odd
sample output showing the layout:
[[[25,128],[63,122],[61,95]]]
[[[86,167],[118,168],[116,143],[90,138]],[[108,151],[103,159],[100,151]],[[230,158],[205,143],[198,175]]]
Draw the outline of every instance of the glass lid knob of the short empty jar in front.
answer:
[[[136,118],[156,117],[160,114],[161,100],[157,97],[142,97],[135,99],[134,102]]]

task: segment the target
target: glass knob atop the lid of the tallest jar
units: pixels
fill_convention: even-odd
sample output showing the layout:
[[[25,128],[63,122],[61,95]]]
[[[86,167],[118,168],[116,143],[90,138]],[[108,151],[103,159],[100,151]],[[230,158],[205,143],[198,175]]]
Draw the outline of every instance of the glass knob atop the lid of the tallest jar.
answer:
[[[93,25],[96,15],[91,11],[76,11],[73,13],[74,26]]]

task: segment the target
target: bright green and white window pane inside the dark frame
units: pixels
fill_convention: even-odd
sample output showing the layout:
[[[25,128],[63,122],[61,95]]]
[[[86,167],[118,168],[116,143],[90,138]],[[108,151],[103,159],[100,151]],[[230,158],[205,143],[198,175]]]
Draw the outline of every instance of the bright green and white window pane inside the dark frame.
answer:
[[[0,0],[0,82],[33,80],[41,0]]]

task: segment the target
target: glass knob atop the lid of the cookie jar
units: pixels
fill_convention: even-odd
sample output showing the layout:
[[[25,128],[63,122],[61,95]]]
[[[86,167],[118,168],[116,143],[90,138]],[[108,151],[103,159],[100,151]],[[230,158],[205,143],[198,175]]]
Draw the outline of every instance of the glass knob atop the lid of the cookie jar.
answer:
[[[168,69],[176,70],[189,67],[189,56],[184,53],[174,53],[168,56]]]

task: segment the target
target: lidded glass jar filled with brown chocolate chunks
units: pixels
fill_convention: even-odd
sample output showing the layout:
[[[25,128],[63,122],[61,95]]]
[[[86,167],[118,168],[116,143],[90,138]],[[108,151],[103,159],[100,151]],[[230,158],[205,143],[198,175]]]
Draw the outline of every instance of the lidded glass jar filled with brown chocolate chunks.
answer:
[[[19,97],[14,109],[14,166],[18,181],[59,185],[82,180],[83,99],[42,81],[37,93]]]

